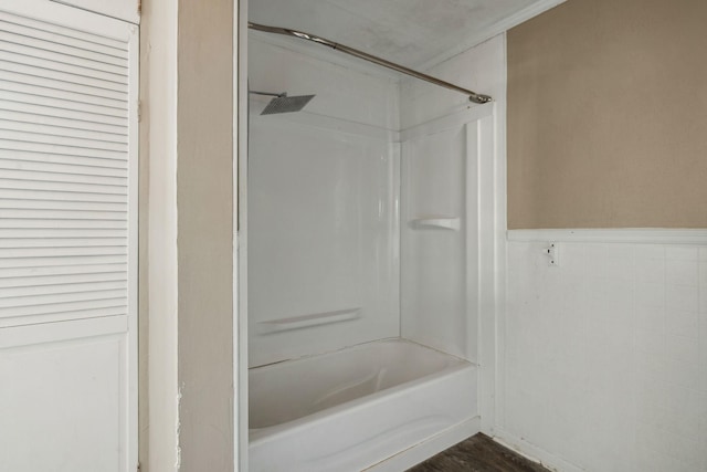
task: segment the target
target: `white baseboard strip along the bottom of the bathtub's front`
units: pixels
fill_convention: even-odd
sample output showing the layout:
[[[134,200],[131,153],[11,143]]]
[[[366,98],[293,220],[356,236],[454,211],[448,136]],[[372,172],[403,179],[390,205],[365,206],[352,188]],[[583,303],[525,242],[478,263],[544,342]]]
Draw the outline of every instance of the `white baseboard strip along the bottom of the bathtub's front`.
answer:
[[[481,418],[474,417],[366,469],[366,472],[401,472],[481,431]]]

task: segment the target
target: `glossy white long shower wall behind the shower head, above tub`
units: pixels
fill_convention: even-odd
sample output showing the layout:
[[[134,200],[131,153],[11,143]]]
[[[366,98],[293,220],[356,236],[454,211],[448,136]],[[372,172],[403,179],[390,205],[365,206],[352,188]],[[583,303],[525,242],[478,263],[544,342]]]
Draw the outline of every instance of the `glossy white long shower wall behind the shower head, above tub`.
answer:
[[[250,99],[251,366],[400,333],[397,77],[262,36],[250,88],[316,96],[264,116]]]

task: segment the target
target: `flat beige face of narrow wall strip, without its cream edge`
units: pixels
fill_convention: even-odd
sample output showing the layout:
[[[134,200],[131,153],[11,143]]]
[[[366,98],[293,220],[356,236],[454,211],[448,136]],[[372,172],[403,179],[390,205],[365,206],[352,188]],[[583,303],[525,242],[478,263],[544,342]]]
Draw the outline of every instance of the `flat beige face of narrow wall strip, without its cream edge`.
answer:
[[[233,0],[179,0],[181,471],[233,470]]]

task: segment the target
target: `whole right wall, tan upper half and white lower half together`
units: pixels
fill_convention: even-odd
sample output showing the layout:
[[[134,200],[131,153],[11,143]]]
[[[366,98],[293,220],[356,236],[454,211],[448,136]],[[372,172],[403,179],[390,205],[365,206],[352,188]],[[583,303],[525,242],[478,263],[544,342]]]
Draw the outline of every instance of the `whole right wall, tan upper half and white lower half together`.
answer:
[[[707,234],[577,230],[707,224],[705,19],[569,0],[508,32],[508,227],[528,230],[497,433],[560,471],[707,470]]]

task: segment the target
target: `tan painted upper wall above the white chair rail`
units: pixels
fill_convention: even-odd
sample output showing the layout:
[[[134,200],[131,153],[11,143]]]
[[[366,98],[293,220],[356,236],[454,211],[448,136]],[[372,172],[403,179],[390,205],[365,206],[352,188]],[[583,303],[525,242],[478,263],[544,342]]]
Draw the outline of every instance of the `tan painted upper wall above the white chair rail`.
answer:
[[[510,229],[707,228],[706,24],[568,0],[508,32]]]

